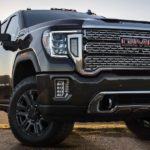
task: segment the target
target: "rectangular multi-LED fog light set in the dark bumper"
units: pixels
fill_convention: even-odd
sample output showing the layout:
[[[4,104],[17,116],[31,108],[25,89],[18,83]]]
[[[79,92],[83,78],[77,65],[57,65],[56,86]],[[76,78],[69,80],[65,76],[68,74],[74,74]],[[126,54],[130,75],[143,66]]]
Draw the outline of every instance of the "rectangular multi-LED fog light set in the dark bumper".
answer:
[[[55,79],[55,98],[66,98],[69,95],[69,80]]]

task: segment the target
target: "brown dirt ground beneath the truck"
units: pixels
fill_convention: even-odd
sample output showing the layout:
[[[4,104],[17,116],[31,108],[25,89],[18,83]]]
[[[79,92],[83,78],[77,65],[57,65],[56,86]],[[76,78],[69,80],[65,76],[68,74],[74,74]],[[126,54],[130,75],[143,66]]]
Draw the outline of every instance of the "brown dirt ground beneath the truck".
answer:
[[[0,124],[7,123],[7,114],[0,113]],[[0,129],[0,150],[150,150],[150,141],[137,139],[124,125],[115,128],[108,124],[103,128],[101,124],[89,123],[85,126],[76,125],[73,133],[55,148],[26,147],[15,139],[10,129]]]

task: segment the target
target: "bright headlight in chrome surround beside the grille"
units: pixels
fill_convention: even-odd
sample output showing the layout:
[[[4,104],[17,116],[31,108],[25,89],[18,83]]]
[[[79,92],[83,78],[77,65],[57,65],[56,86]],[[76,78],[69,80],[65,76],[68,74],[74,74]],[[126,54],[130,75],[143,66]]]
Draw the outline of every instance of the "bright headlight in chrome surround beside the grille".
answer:
[[[45,31],[43,34],[43,45],[52,57],[68,57],[68,35],[79,31]],[[72,41],[76,46],[76,41]],[[76,46],[77,47],[77,46]]]

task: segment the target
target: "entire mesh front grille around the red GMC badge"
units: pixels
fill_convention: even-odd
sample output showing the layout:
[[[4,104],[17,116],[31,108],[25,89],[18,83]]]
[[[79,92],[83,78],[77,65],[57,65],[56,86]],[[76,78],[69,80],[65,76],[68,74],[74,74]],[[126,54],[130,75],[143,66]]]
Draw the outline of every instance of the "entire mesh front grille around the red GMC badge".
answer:
[[[150,48],[122,47],[121,37],[150,38],[150,31],[85,30],[84,70],[150,69]]]

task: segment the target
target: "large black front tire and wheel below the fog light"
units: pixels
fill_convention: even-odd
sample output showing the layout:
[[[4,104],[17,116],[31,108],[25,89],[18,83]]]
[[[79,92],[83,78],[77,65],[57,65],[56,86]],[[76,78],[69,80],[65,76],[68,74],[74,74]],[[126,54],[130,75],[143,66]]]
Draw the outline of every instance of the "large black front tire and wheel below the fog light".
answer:
[[[29,146],[55,146],[72,131],[74,123],[46,121],[36,103],[37,82],[29,77],[14,90],[8,112],[14,136]]]

